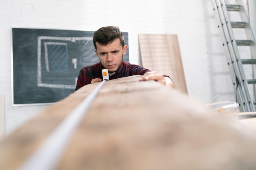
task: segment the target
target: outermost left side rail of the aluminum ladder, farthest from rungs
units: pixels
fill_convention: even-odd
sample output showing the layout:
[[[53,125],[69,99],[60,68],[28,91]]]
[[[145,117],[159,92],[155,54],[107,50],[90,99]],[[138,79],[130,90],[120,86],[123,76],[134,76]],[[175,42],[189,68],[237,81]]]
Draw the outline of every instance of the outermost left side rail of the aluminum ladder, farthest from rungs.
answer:
[[[236,97],[237,97],[237,102],[240,103],[240,108],[242,108],[241,111],[243,112],[247,112],[248,111],[248,107],[245,107],[244,100],[245,100],[245,96],[243,95],[243,89],[240,89],[240,85],[237,84],[237,77],[236,77],[236,73],[234,70],[234,66],[232,64],[232,60],[231,60],[231,53],[229,51],[229,48],[227,46],[227,40],[225,39],[225,31],[223,30],[223,25],[222,25],[222,20],[220,17],[220,13],[219,13],[219,9],[218,9],[218,4],[216,2],[216,0],[212,0],[212,6],[213,6],[213,10],[214,10],[214,14],[216,15],[216,21],[218,22],[218,28],[220,29],[220,37],[223,43],[223,46],[225,46],[225,53],[226,53],[226,61],[228,64],[228,68],[229,68],[229,72],[231,75],[231,79],[232,79],[232,83],[233,83],[233,87],[234,87],[234,91],[236,93]],[[238,96],[237,96],[238,95]]]

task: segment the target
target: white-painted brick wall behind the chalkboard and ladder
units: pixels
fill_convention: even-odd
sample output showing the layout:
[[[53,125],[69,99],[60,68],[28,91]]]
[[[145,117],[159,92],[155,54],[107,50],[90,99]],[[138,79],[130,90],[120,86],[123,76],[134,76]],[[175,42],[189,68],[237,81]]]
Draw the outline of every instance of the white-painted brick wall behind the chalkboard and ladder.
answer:
[[[210,0],[0,0],[5,135],[48,106],[11,106],[11,27],[95,31],[109,25],[129,32],[133,64],[140,64],[139,33],[177,34],[189,96],[205,103],[234,100]]]

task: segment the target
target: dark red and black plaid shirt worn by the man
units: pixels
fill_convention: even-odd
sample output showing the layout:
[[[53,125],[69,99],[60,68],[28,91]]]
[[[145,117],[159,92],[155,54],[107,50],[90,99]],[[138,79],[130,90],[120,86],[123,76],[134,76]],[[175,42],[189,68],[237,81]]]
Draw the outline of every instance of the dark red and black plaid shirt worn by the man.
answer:
[[[86,84],[90,84],[92,79],[100,78],[102,79],[102,69],[103,66],[101,66],[100,62],[93,64],[91,66],[83,67],[80,70],[77,83],[76,83],[76,90],[81,88],[82,86],[85,86]],[[121,66],[117,69],[115,74],[111,75],[109,77],[109,80],[111,79],[117,79],[121,77],[127,77],[131,75],[144,75],[148,70],[147,68],[141,67],[136,64],[130,64],[128,62],[122,62]]]

